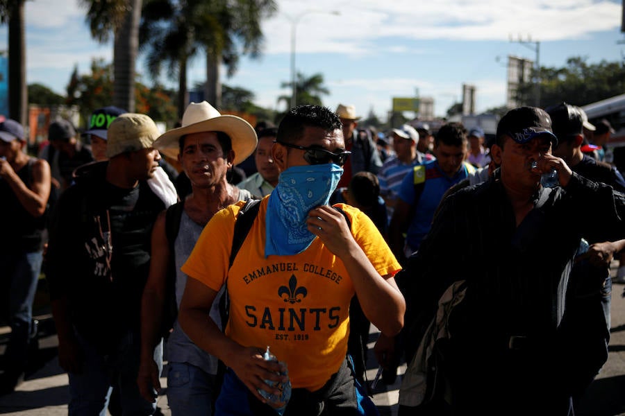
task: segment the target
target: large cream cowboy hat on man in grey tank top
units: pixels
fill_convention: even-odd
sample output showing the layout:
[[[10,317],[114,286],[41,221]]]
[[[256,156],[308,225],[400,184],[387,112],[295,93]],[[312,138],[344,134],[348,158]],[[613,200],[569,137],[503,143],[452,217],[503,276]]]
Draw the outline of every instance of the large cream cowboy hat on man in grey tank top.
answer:
[[[190,103],[183,114],[182,127],[169,130],[154,142],[158,150],[178,149],[181,136],[199,132],[224,132],[230,136],[235,152],[233,165],[240,164],[253,153],[258,144],[254,128],[238,116],[219,114],[206,101]],[[176,150],[176,154],[178,151]]]

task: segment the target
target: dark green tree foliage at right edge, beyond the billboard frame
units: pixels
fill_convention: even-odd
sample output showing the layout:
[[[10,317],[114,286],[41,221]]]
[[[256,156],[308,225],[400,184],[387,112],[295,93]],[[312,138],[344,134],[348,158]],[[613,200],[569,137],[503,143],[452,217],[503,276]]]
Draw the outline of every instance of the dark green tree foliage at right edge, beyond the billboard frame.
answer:
[[[572,57],[562,68],[541,67],[540,107],[566,101],[586,105],[625,92],[625,60],[587,64],[587,58]],[[535,86],[522,83],[517,100],[535,105]]]

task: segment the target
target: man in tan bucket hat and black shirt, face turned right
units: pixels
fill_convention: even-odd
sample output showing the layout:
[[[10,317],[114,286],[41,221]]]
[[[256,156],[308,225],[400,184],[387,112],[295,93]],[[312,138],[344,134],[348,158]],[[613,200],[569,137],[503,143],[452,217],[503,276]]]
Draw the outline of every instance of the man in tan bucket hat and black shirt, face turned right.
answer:
[[[150,232],[168,206],[147,184],[158,168],[158,135],[149,116],[118,116],[108,128],[108,162],[77,178],[53,212],[47,279],[70,415],[103,414],[113,388],[124,414],[156,409],[136,379]],[[162,345],[154,356],[162,365]]]

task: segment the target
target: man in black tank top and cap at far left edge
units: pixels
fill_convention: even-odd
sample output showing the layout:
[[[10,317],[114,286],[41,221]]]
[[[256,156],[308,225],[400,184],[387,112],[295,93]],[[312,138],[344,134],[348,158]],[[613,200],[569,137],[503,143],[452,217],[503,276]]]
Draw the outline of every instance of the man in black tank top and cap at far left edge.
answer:
[[[50,166],[24,153],[24,128],[15,120],[0,122],[0,293],[8,309],[11,334],[4,353],[0,394],[24,379],[28,340],[33,328],[33,300],[41,270],[43,231],[50,195]],[[8,307],[6,307],[8,306]]]

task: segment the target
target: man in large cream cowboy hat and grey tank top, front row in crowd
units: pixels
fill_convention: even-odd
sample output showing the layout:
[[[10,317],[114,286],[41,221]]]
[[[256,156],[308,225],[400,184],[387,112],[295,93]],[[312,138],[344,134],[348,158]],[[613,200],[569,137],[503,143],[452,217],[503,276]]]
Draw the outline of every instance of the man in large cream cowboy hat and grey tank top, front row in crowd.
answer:
[[[187,275],[180,270],[202,229],[213,215],[239,200],[249,191],[238,189],[226,180],[228,169],[246,159],[256,148],[256,132],[238,116],[221,115],[206,101],[191,103],[183,115],[182,126],[159,137],[159,150],[177,148],[178,162],[190,179],[192,192],[185,200],[163,211],[152,231],[154,260],[142,299],[142,353],[138,385],[143,397],[155,401],[160,376],[153,352],[160,344],[163,311],[167,299],[175,295],[180,302]],[[177,218],[176,218],[177,216]],[[172,229],[172,223],[178,229]],[[223,239],[224,236],[213,236]],[[172,271],[175,265],[175,272]],[[210,316],[219,320],[218,303]],[[176,304],[177,307],[177,304]],[[167,338],[167,401],[174,415],[210,415],[217,391],[217,358],[197,347],[182,331],[177,320]],[[188,378],[188,382],[183,383]]]

